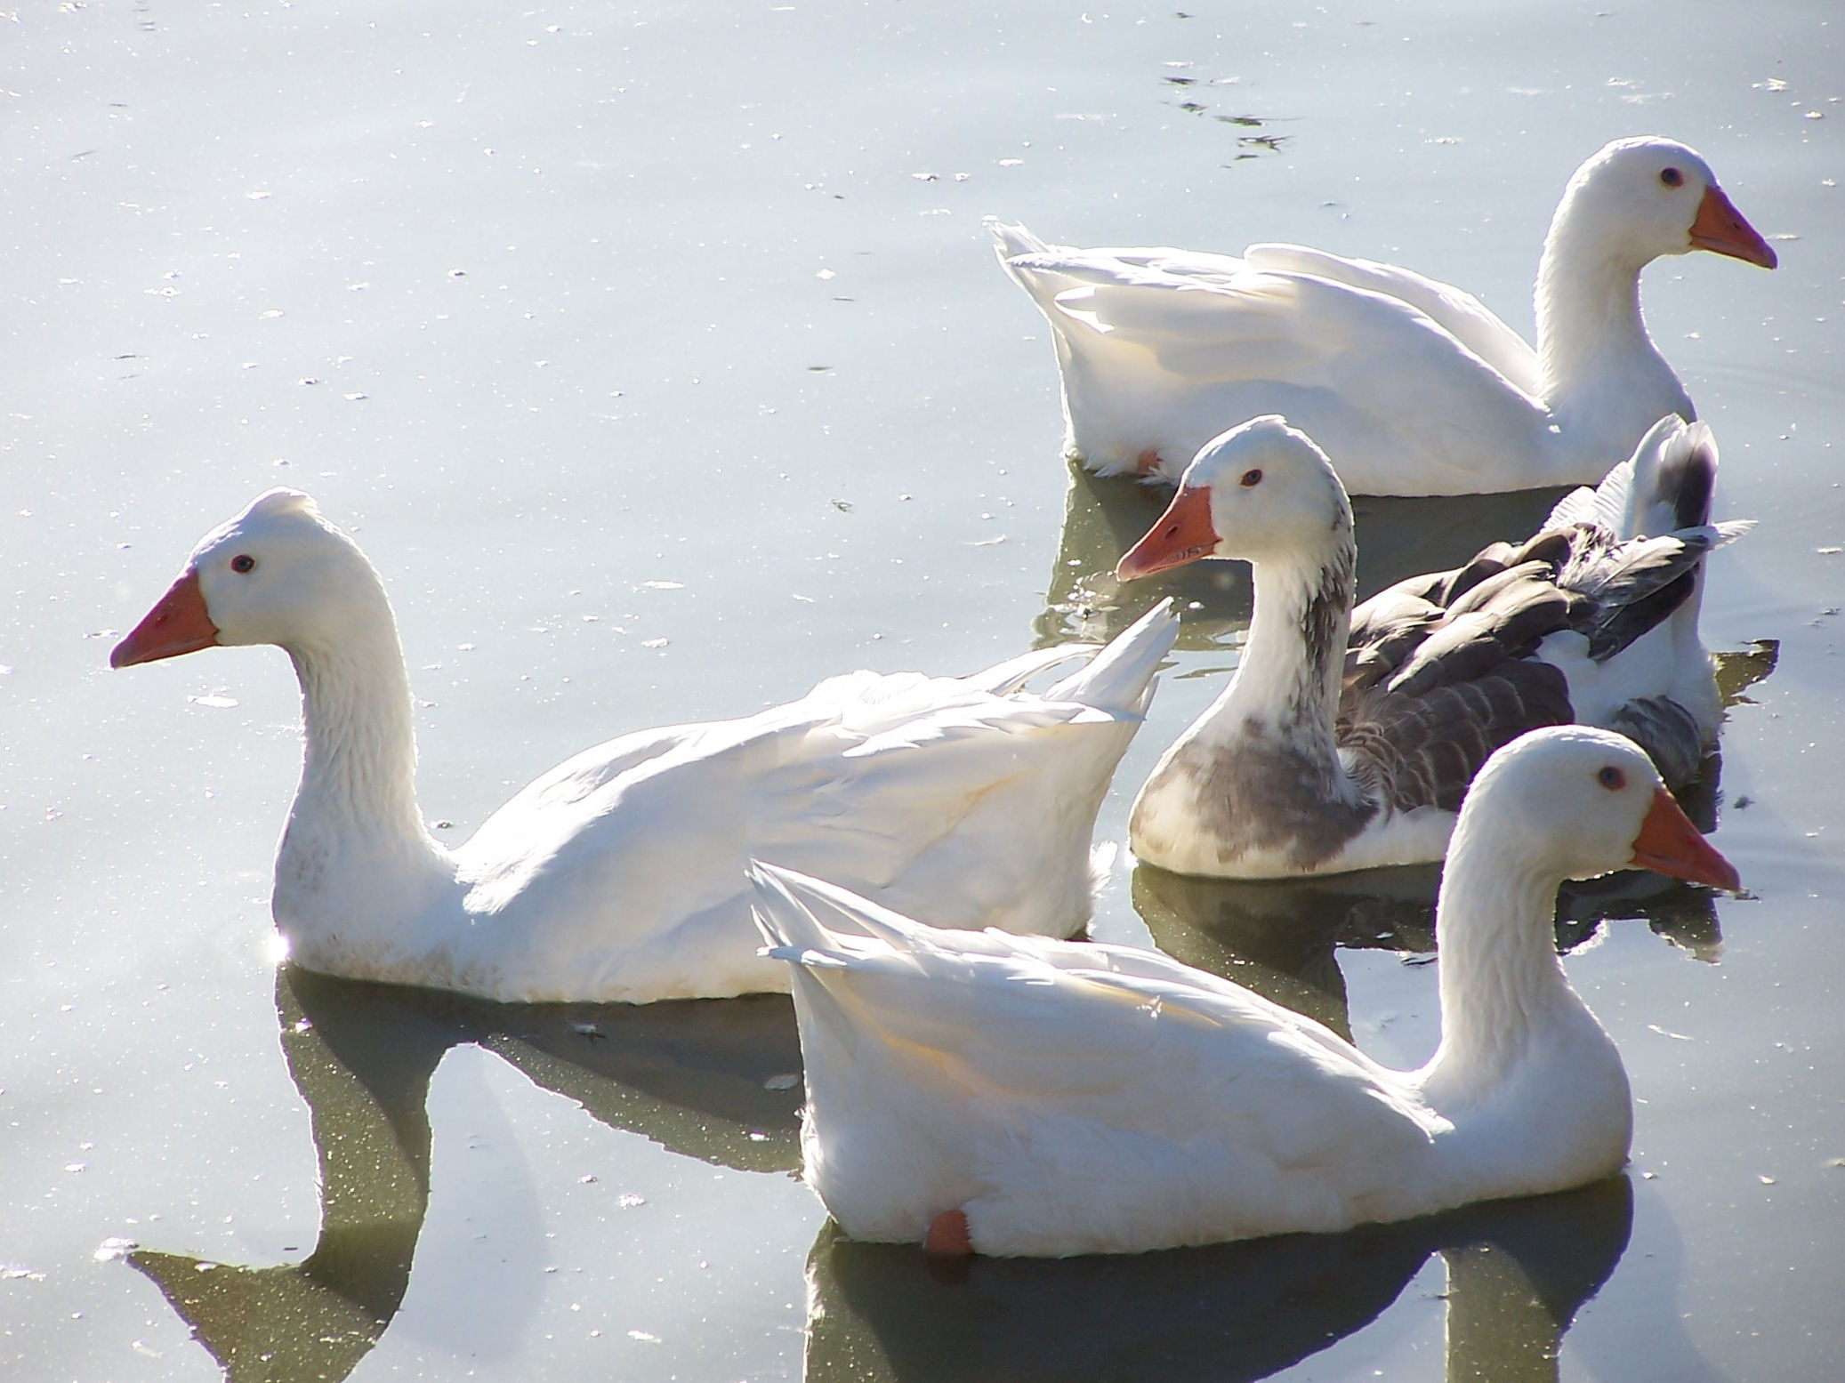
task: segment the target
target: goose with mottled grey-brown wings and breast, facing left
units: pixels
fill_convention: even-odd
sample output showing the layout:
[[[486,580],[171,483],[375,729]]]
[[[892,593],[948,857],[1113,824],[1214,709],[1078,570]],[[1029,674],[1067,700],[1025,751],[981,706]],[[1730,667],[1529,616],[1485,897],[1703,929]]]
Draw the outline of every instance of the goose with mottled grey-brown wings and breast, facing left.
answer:
[[[1255,614],[1231,684],[1140,789],[1133,852],[1227,878],[1441,859],[1487,754],[1541,725],[1620,730],[1673,786],[1696,778],[1721,717],[1699,568],[1749,527],[1707,524],[1716,463],[1710,430],[1668,415],[1537,537],[1354,612],[1327,454],[1277,417],[1214,439],[1116,575],[1242,557]]]

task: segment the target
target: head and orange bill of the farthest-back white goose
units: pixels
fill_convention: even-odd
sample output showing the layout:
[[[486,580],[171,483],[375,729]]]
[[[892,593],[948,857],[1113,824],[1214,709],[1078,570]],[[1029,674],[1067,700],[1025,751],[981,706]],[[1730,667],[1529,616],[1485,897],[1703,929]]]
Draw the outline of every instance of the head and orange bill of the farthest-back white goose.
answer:
[[[1764,269],[1777,264],[1775,251],[1718,186],[1710,164],[1677,140],[1657,136],[1614,140],[1576,170],[1550,240],[1577,236],[1633,269],[1694,249]]]

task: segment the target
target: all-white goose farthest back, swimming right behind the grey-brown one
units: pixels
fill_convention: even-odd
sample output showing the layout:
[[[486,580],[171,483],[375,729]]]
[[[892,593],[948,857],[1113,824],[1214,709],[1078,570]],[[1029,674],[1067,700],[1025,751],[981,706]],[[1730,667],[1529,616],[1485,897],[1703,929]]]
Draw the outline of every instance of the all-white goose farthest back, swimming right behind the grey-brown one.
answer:
[[[1207,439],[1284,413],[1352,494],[1594,483],[1660,415],[1696,417],[1646,334],[1640,269],[1692,249],[1775,267],[1710,166],[1664,138],[1614,140],[1576,170],[1537,269],[1535,350],[1472,295],[1389,264],[993,230],[1050,321],[1072,457],[1177,481]]]

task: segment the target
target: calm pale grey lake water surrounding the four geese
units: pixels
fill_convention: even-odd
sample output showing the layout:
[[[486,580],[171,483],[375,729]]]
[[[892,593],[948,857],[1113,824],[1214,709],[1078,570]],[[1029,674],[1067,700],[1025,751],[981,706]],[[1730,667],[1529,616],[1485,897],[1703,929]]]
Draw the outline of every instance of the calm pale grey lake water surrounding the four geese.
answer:
[[[20,7],[0,17],[0,1372],[18,1379],[1832,1377],[1845,1357],[1845,52],[1823,4]],[[1782,267],[1646,275],[1723,448],[1708,802],[1745,898],[1572,892],[1622,1178],[1074,1263],[836,1241],[784,999],[494,1009],[277,972],[273,649],[107,669],[290,483],[402,623],[430,819],[854,666],[1101,636],[1157,500],[1072,481],[980,218],[1303,240],[1530,328],[1605,140],[1701,149]],[[1548,496],[1360,509],[1369,586]],[[649,583],[672,583],[655,586]],[[1197,609],[1101,833],[1234,666]],[[1114,880],[1155,939],[1435,1042],[1430,870]]]

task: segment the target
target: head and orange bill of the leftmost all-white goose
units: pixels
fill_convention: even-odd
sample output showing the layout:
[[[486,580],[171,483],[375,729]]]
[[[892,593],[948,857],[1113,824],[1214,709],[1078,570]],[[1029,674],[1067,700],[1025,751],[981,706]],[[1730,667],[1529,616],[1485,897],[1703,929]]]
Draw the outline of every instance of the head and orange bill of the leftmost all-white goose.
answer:
[[[380,599],[371,562],[314,500],[273,489],[199,538],[179,579],[116,644],[109,666],[214,645],[330,647],[375,625]]]

